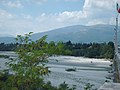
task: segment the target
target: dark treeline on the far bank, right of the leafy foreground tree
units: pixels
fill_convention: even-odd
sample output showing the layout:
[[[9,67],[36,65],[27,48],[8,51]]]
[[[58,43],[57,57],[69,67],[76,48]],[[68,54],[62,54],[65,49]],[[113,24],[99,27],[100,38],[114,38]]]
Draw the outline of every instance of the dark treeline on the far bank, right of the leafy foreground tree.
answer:
[[[114,57],[114,43],[64,43],[66,55],[83,56],[89,58],[110,58]]]

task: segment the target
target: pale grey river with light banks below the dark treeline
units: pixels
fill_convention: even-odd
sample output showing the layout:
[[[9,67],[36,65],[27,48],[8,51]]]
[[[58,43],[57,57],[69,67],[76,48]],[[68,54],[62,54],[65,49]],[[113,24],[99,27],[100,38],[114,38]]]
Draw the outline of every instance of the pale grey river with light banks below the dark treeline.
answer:
[[[16,57],[14,52],[0,52],[0,54]],[[0,70],[6,68],[8,59],[0,58]],[[51,81],[52,85],[58,86],[64,81],[71,87],[76,85],[76,90],[84,90],[87,83],[94,84],[93,88],[99,88],[109,76],[111,62],[106,59],[90,59],[73,56],[55,56],[49,58],[47,66],[51,73],[45,77],[45,81]],[[76,71],[66,71],[76,68]],[[111,80],[108,80],[111,81]]]

